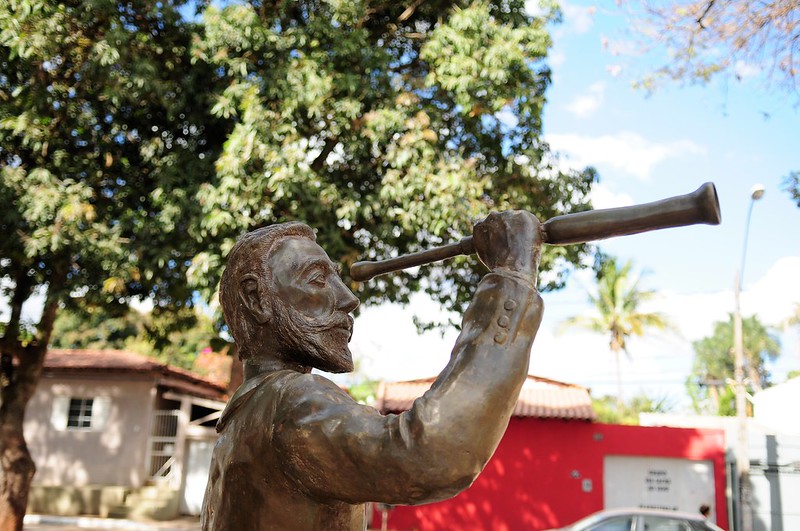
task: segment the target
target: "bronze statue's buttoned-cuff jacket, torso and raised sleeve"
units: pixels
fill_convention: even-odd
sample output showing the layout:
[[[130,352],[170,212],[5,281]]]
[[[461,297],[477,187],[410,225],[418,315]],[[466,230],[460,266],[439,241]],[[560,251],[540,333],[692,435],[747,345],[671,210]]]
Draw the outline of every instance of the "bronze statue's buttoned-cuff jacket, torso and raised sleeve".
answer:
[[[366,502],[455,496],[500,442],[541,315],[527,282],[484,277],[447,367],[400,415],[314,374],[248,379],[217,425],[203,529],[362,530]]]

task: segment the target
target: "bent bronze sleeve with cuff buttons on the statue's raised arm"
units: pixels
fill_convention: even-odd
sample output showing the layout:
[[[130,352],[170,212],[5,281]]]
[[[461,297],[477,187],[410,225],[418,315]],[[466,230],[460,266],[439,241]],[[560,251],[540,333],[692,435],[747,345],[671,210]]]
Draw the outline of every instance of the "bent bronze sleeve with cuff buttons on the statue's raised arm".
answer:
[[[492,456],[528,373],[542,301],[492,273],[464,315],[449,363],[412,408],[381,415],[326,378],[282,390],[273,444],[290,481],[321,501],[418,504],[455,496]]]

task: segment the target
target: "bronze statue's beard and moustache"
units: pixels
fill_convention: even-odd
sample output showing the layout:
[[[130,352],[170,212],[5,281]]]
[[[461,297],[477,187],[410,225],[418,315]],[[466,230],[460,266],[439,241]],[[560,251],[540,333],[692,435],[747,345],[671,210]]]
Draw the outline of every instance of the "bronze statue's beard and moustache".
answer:
[[[336,311],[325,320],[309,319],[280,300],[273,302],[273,324],[286,358],[325,372],[353,370],[348,343],[353,319]]]

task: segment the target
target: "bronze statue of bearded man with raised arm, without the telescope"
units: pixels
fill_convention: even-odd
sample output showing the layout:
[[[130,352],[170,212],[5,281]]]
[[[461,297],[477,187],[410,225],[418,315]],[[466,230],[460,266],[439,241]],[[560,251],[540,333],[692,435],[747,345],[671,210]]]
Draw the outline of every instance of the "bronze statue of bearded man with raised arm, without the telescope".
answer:
[[[413,407],[381,415],[327,378],[353,369],[358,300],[302,223],[246,234],[220,286],[244,383],[217,425],[204,530],[365,529],[366,502],[421,504],[469,487],[528,373],[542,316],[541,225],[522,211],[477,223],[489,267],[449,363]]]

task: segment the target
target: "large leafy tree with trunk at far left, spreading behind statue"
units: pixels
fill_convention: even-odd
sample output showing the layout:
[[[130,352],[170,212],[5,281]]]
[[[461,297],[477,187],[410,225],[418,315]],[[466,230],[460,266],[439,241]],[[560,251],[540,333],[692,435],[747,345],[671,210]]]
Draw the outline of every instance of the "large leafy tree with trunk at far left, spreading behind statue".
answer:
[[[490,210],[590,206],[595,172],[559,170],[541,138],[554,10],[234,1],[194,22],[181,6],[0,2],[0,529],[21,525],[22,418],[59,308],[150,299],[180,323],[241,232],[287,219],[347,271],[460,238]],[[587,250],[550,249],[544,288]],[[460,310],[483,272],[461,259],[353,287],[368,302],[425,288]]]

